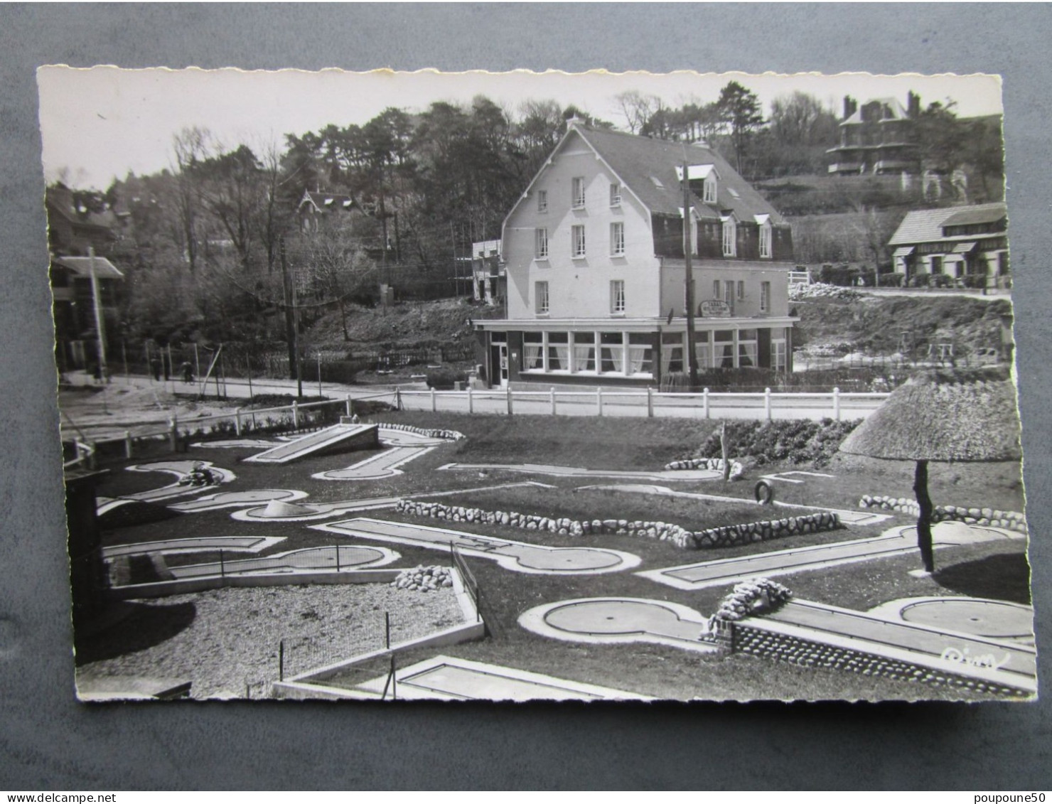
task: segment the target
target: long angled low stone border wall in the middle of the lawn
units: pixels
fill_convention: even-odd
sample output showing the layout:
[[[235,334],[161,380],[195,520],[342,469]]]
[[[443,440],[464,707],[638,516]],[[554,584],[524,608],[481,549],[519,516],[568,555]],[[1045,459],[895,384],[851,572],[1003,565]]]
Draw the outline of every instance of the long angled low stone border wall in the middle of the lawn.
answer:
[[[507,525],[524,530],[547,530],[560,536],[613,535],[639,536],[672,542],[683,549],[730,547],[770,539],[783,539],[797,534],[836,530],[844,527],[838,515],[832,511],[805,514],[786,519],[764,520],[743,525],[722,525],[705,530],[687,530],[668,522],[649,522],[624,519],[571,520],[566,517],[541,517],[518,511],[484,510],[461,505],[437,502],[400,500],[394,510],[416,517],[441,519],[447,522],[479,522],[487,525]]]

